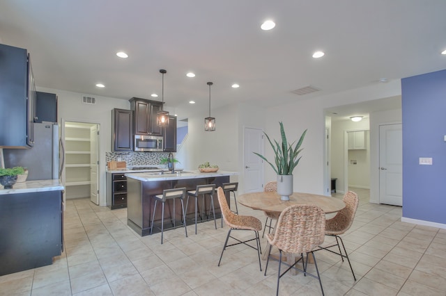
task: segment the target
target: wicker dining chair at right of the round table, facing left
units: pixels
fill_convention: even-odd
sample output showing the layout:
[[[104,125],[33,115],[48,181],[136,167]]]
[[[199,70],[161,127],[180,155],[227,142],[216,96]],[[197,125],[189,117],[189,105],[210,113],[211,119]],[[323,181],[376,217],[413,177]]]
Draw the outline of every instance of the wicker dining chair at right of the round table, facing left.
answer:
[[[325,249],[329,252],[340,255],[342,261],[344,261],[344,258],[347,258],[348,265],[350,265],[351,273],[353,274],[353,279],[355,279],[356,281],[355,272],[353,272],[353,268],[351,266],[350,259],[348,258],[346,247],[344,246],[344,242],[342,241],[342,238],[339,235],[346,233],[346,231],[350,229],[351,224],[353,223],[353,218],[355,217],[357,206],[359,204],[359,198],[357,197],[357,194],[355,192],[348,191],[344,195],[344,198],[342,200],[346,203],[346,207],[343,208],[341,211],[337,212],[337,214],[334,217],[325,221],[325,235],[334,236],[334,238],[336,238],[336,243],[325,247],[319,246],[319,249],[316,249],[315,251]],[[344,254],[342,254],[341,252],[341,246],[339,245],[339,240],[341,241],[342,248],[344,249]],[[329,249],[334,246],[338,247],[339,253],[333,251],[332,249]]]

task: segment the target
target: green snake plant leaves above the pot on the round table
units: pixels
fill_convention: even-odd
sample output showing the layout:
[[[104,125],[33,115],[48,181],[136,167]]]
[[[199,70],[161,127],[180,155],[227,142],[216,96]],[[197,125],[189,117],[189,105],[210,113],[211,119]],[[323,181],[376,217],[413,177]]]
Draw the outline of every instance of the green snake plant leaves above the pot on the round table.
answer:
[[[282,141],[277,142],[277,140],[274,140],[274,143],[271,141],[270,137],[263,132],[266,135],[266,138],[268,139],[268,142],[270,142],[270,145],[272,147],[272,150],[274,151],[274,163],[273,165],[268,159],[266,159],[265,156],[254,152],[257,156],[262,158],[264,161],[269,163],[272,167],[272,170],[276,172],[278,175],[291,175],[293,174],[294,168],[298,165],[300,158],[302,156],[298,157],[300,154],[300,145],[302,145],[302,142],[305,138],[305,134],[307,133],[307,129],[300,135],[299,141],[296,143],[295,141],[289,144],[289,142],[286,140],[286,134],[284,130],[284,124],[282,122],[279,122],[280,124],[280,135],[282,136]]]

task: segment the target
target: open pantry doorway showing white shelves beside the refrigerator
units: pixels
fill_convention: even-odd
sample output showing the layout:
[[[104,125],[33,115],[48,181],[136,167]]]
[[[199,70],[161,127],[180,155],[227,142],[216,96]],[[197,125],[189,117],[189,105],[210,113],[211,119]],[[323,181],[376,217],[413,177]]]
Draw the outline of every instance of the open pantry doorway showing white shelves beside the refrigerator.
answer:
[[[90,198],[99,205],[100,124],[62,120],[64,199]]]

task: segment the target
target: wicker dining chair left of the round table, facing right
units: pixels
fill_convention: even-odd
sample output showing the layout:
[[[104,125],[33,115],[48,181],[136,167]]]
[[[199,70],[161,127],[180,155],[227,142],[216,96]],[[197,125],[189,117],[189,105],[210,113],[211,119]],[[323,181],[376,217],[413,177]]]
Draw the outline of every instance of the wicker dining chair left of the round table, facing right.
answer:
[[[226,249],[226,247],[243,244],[247,245],[248,247],[251,247],[252,249],[257,250],[257,256],[259,256],[259,266],[261,271],[262,265],[260,261],[260,254],[262,251],[260,247],[259,231],[262,230],[262,222],[260,222],[260,220],[257,219],[256,217],[237,215],[236,213],[233,213],[229,208],[228,203],[226,202],[226,196],[224,195],[223,189],[221,187],[217,188],[217,197],[218,197],[218,203],[220,204],[220,208],[222,209],[222,216],[224,223],[229,226],[228,235],[226,236],[226,240],[224,242],[222,254],[220,255],[220,260],[218,261],[218,266],[220,266],[220,262],[222,262],[223,252]],[[255,238],[240,240],[238,238],[231,236],[231,231],[233,230],[254,231]],[[229,238],[233,238],[233,240],[236,240],[238,242],[228,245]],[[256,240],[256,247],[247,244],[247,242],[250,242],[252,240]]]

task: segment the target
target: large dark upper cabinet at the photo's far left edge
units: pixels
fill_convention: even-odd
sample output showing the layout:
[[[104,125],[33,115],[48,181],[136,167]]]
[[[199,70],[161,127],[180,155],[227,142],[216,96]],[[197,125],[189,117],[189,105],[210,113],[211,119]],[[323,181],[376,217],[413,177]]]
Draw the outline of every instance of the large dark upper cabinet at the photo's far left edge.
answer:
[[[32,147],[36,86],[26,49],[0,44],[0,148]]]

